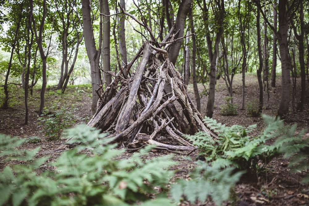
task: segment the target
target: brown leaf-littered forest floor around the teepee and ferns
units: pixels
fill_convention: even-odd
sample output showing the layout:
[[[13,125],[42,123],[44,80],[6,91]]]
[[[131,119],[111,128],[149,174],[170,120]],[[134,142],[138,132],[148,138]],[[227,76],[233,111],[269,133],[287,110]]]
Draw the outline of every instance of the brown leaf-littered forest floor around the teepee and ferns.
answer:
[[[277,75],[279,76],[279,75]],[[290,101],[290,113],[288,120],[285,124],[297,124],[297,131],[307,129],[305,138],[309,138],[309,86],[307,84],[307,94],[305,99],[305,105],[302,112],[293,112],[292,98]],[[264,108],[263,113],[275,116],[277,108],[280,102],[281,94],[281,77],[277,77],[275,88],[270,88],[269,91],[269,109]],[[205,85],[208,89],[208,86]],[[203,86],[199,85],[200,94],[202,93]],[[38,107],[40,104],[39,92],[40,90],[34,90],[33,96],[29,97],[29,119],[28,124],[24,124],[24,97],[23,89],[17,89],[12,87],[10,93],[11,108],[0,109],[0,133],[6,135],[18,136],[20,138],[40,137],[39,143],[25,143],[23,149],[34,149],[40,147],[40,152],[37,157],[50,155],[49,162],[52,162],[55,158],[59,157],[61,152],[55,152],[54,150],[59,147],[59,143],[63,140],[50,141],[44,138],[44,134],[41,133],[41,128],[38,127]],[[233,96],[234,103],[238,105],[237,116],[223,116],[220,114],[220,105],[224,104],[224,97],[228,95],[226,84],[224,80],[219,79],[216,85],[216,98],[213,118],[222,124],[231,126],[234,124],[248,126],[252,124],[257,125],[256,132],[265,128],[263,119],[261,117],[251,117],[246,114],[245,110],[241,110],[242,105],[242,81],[241,75],[237,74],[234,77],[233,82]],[[258,83],[255,74],[246,74],[246,102],[252,99],[259,98]],[[297,78],[296,95],[300,96],[300,78]],[[188,86],[188,92],[193,102],[195,101],[193,87]],[[291,90],[292,92],[292,90]],[[2,94],[1,94],[2,95]],[[0,96],[1,96],[0,95]],[[80,118],[78,122],[87,123],[91,113],[91,87],[88,86],[70,86],[66,90],[66,94],[59,94],[54,87],[48,87],[46,89],[45,106],[50,107],[54,103],[61,105],[68,104],[73,105],[76,108],[74,110],[75,115]],[[264,102],[267,100],[267,92],[264,92]],[[295,101],[296,102],[296,101]],[[201,97],[201,114],[205,115],[207,105],[207,97],[202,95]],[[271,144],[271,142],[269,143]],[[166,151],[152,151],[149,153],[148,158],[156,157],[159,155],[167,154]],[[128,155],[128,154],[125,154]],[[184,152],[185,155],[185,152]],[[192,161],[182,158],[184,155],[176,154],[175,161],[179,164],[173,169],[177,172],[175,178],[187,178],[189,171],[194,166],[194,160],[198,156],[197,152],[190,154]],[[127,156],[126,156],[127,157]],[[309,205],[309,184],[301,183],[301,180],[308,175],[308,171],[299,173],[290,173],[288,166],[289,160],[283,158],[277,158],[268,164],[268,170],[266,173],[256,174],[255,176],[243,176],[235,186],[235,194],[233,195],[235,201],[225,202],[224,205]],[[0,160],[0,170],[6,166],[6,162]],[[48,168],[45,168],[48,169]],[[236,204],[235,204],[236,202]],[[181,205],[188,205],[183,203]],[[209,201],[205,205],[214,205]]]

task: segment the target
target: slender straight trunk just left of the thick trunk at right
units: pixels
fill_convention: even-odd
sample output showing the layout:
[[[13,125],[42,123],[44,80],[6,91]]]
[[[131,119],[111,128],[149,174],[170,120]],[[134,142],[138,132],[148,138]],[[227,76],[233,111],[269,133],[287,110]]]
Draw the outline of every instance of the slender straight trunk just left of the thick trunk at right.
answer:
[[[273,27],[277,31],[277,2],[273,4]],[[271,86],[276,87],[276,67],[277,67],[277,36],[273,31],[273,64],[271,71]]]

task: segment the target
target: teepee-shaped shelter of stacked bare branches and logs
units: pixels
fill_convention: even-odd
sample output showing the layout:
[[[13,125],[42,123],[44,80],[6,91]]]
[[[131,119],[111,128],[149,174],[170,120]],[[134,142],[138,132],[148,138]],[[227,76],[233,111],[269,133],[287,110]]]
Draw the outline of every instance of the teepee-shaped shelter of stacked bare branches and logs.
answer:
[[[97,91],[102,90],[102,95],[87,125],[109,133],[107,137],[112,139],[108,143],[117,142],[124,148],[151,144],[186,151],[195,147],[183,138],[184,134],[203,131],[217,137],[203,123],[180,74],[168,59],[167,49],[176,41],[173,38],[170,32],[162,43],[145,41],[129,63],[117,74],[111,73],[114,78],[105,90],[99,86]],[[139,63],[133,69],[135,62]]]

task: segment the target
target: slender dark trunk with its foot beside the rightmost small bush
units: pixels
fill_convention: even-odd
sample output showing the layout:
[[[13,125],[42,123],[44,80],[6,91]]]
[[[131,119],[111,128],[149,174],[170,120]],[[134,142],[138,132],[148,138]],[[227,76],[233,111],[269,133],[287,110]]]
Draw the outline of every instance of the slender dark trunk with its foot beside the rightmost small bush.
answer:
[[[263,111],[263,82],[262,82],[262,70],[263,70],[263,57],[262,57],[262,43],[261,43],[261,28],[260,28],[260,11],[257,10],[256,15],[256,33],[257,33],[257,50],[259,55],[259,68],[256,71],[257,81],[259,82],[259,111]]]

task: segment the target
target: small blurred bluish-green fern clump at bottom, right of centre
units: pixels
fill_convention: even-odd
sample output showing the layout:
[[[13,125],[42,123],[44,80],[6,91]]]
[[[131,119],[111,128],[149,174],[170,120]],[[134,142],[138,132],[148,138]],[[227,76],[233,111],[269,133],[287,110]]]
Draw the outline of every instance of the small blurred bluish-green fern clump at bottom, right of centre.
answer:
[[[222,169],[221,166],[209,166],[198,161],[191,172],[191,180],[180,179],[171,187],[171,196],[176,202],[187,200],[192,204],[202,205],[210,197],[216,205],[228,200],[232,187],[238,182],[243,172],[233,173],[234,167]]]

